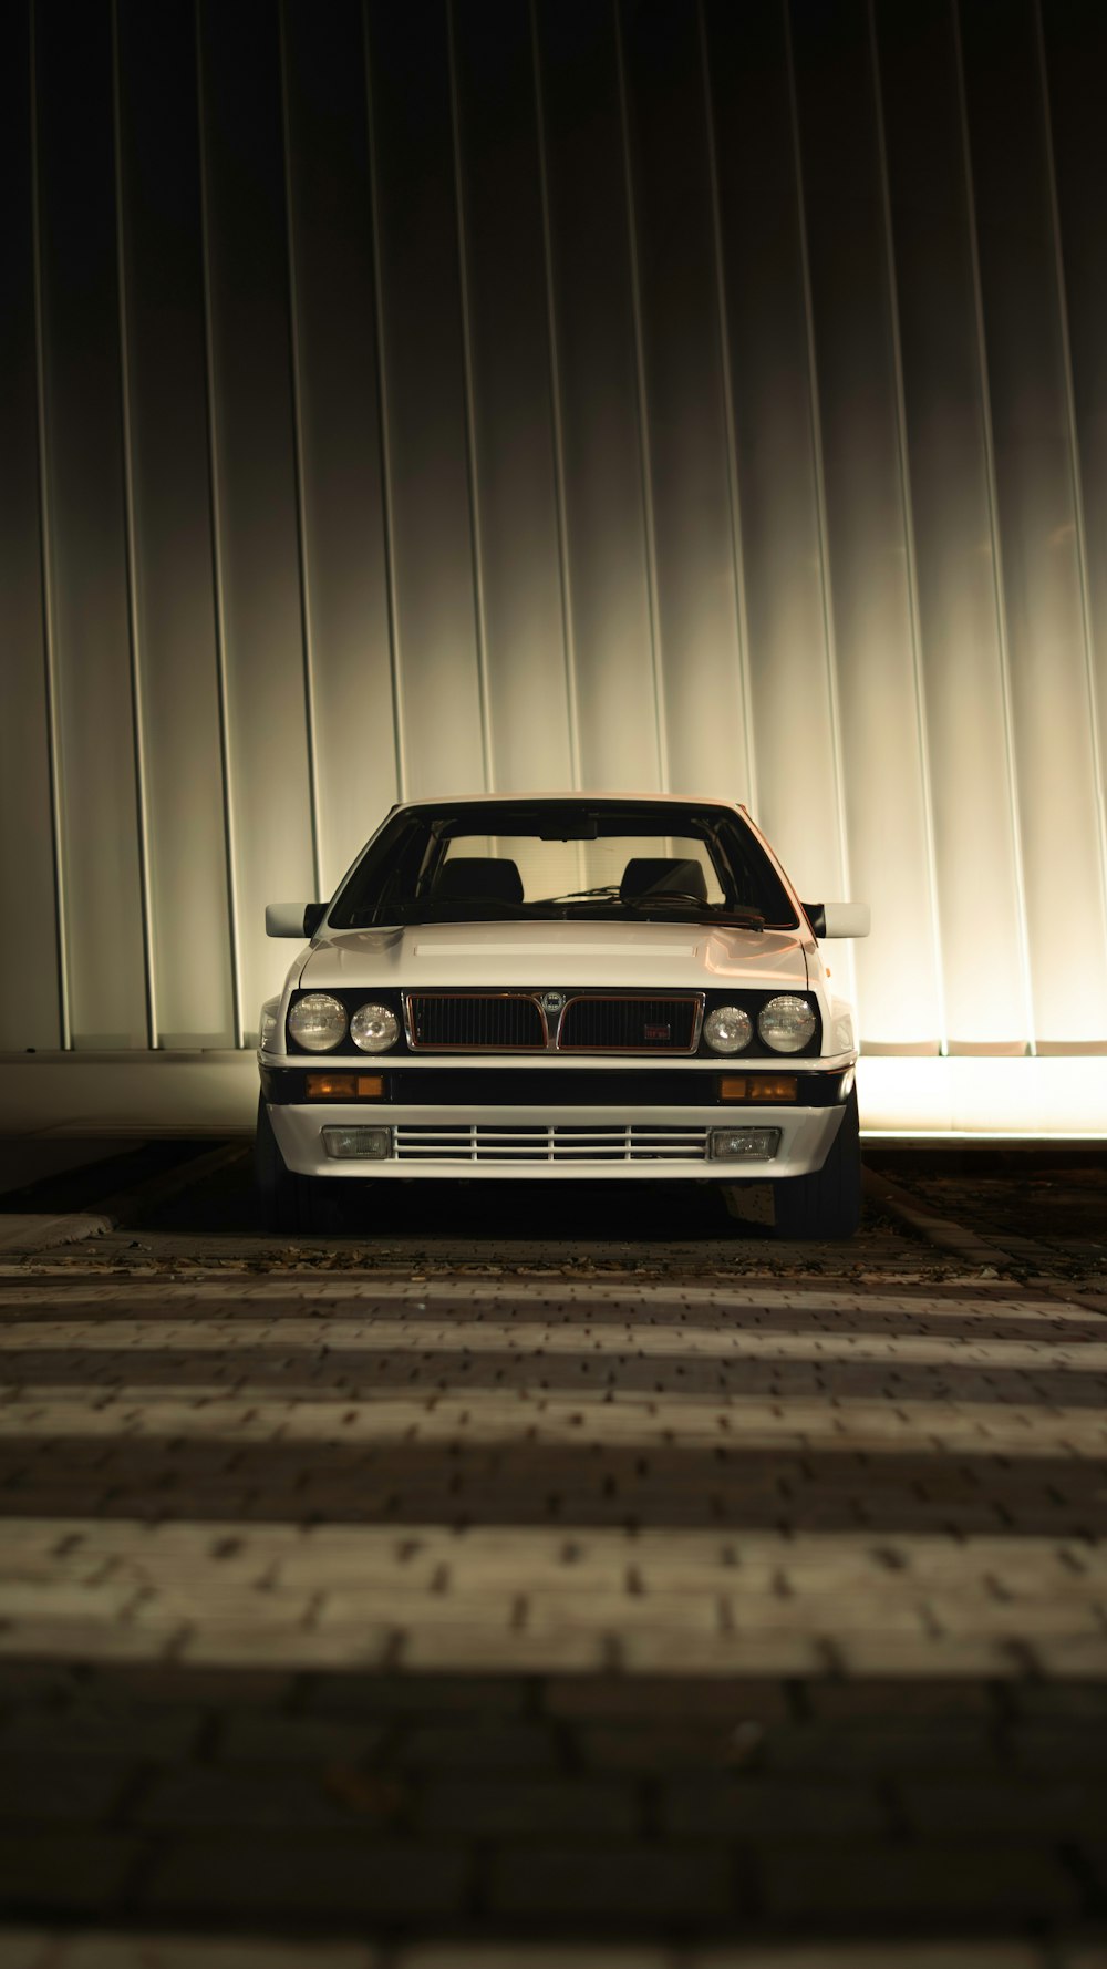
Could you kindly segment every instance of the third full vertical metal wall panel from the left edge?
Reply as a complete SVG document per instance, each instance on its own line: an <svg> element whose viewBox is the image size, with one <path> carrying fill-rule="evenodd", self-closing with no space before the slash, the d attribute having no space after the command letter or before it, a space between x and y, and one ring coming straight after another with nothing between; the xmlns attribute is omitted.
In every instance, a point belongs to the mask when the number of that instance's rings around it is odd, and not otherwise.
<svg viewBox="0 0 1107 1969"><path fill-rule="evenodd" d="M189 0L124 0L118 91L156 1036L232 1046Z"/></svg>

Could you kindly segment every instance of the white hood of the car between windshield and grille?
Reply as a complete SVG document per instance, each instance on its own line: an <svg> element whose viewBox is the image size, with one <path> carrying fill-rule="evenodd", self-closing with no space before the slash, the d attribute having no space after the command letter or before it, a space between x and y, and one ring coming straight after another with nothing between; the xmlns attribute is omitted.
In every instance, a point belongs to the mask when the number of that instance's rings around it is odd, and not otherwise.
<svg viewBox="0 0 1107 1969"><path fill-rule="evenodd" d="M414 923L406 929L335 929L311 945L301 988L390 986L546 990L727 984L804 990L808 961L794 929L707 923Z"/></svg>

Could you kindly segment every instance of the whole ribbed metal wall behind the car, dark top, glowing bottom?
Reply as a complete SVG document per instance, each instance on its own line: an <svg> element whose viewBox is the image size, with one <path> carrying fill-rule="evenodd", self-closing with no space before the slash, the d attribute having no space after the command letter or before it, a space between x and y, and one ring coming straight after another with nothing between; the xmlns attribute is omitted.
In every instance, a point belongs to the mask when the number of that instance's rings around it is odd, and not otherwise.
<svg viewBox="0 0 1107 1969"><path fill-rule="evenodd" d="M871 900L871 1049L1107 1049L1105 53L8 8L0 1048L240 1044L398 794L591 786Z"/></svg>

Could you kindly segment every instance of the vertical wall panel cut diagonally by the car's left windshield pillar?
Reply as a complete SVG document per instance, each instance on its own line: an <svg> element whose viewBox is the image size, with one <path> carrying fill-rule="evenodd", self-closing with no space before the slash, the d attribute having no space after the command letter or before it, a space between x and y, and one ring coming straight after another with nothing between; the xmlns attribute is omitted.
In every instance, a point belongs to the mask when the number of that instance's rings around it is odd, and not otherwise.
<svg viewBox="0 0 1107 1969"><path fill-rule="evenodd" d="M357 0L284 12L315 797L331 894L396 799L372 195Z"/></svg>

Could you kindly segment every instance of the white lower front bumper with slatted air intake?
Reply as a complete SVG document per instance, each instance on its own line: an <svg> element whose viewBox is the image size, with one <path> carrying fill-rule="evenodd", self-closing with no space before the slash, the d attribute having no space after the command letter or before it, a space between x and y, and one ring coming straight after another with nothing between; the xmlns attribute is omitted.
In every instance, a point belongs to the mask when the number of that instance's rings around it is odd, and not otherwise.
<svg viewBox="0 0 1107 1969"><path fill-rule="evenodd" d="M362 1063L364 1065L364 1063ZM752 1065L752 1063L750 1063ZM768 1063L762 1063L768 1065ZM680 1103L634 1099L626 1075L624 1099L563 1101L557 1071L544 1075L540 1099L447 1103L433 1101L303 1101L299 1075L266 1065L262 1091L284 1162L297 1175L337 1179L477 1181L778 1181L821 1170L845 1112L853 1061L817 1061L798 1075L790 1103L721 1103L711 1099L719 1069L703 1077L703 1097ZM412 1087L412 1083L406 1083ZM597 1081L597 1091L599 1091ZM579 1081L575 1083L579 1087ZM611 1077L603 1083L611 1093ZM392 1093L392 1089L388 1089ZM477 1091L477 1089L475 1089ZM676 1083L674 1083L676 1091ZM687 1079L682 1081L682 1095ZM384 1160L337 1160L327 1154L325 1128L390 1130ZM713 1130L778 1130L770 1160L713 1158Z"/></svg>

